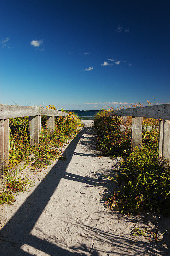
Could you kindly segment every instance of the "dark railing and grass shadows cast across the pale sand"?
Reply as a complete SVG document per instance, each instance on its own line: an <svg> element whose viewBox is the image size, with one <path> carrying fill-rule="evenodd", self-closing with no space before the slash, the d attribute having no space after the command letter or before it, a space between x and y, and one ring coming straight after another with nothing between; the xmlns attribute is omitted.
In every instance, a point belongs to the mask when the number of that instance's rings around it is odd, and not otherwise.
<svg viewBox="0 0 170 256"><path fill-rule="evenodd" d="M109 256L112 255L121 256L121 255L168 255L167 249L162 248L162 254L156 250L156 246L153 243L136 241L135 239L129 239L125 235L114 234L113 232L106 232L100 230L98 228L93 228L90 226L82 225L77 222L77 225L81 225L81 227L88 234L95 233L95 239L98 240L101 244L103 244L103 251L100 249L100 253L97 248L88 248L88 246L84 243L76 243L72 248L72 252L67 249L61 248L61 244L63 247L63 243L60 244L60 241L57 240L56 237L46 237L44 234L44 239L40 239L31 234L31 230L34 228L36 221L40 217L41 213L45 209L50 197L54 193L55 189L58 186L61 178L65 178L68 180L76 180L79 182L87 183L92 186L95 186L97 182L104 182L106 187L106 180L103 177L97 178L89 178L82 177L80 175L73 175L66 172L68 164L70 163L76 145L79 142L80 138L86 134L92 134L93 128L84 128L82 131L73 139L66 150L64 151L64 155L66 155L66 161L62 163L58 161L55 166L48 172L45 177L45 180L42 181L30 194L30 196L24 201L24 203L20 206L17 212L12 216L12 218L7 222L5 228L1 230L0 233L0 255L1 256L21 256L21 255L33 255L29 252L25 252L22 250L21 246L23 244L28 244L31 247L36 248L37 250L42 251L37 252L36 255L51 255L51 256L76 256L76 255L102 255ZM91 147L91 144L85 141L85 145ZM96 156L96 154L94 153ZM56 174L56 168L58 172ZM99 180L100 178L100 180ZM111 214L113 214L111 212ZM24 222L24 224L23 224ZM28 225L29 223L29 225ZM40 231L41 230L40 227ZM109 240L110 244L114 244L115 252L109 252L104 250L104 244ZM50 241L49 241L50 240ZM52 243L54 241L56 244ZM129 245L127 247L127 244ZM130 250L131 248L132 250ZM130 251L129 251L130 250Z"/></svg>

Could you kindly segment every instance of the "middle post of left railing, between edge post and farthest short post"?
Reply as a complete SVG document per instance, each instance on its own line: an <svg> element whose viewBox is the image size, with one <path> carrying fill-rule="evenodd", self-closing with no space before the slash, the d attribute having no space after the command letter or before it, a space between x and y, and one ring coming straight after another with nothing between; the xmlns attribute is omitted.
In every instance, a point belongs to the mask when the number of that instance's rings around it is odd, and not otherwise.
<svg viewBox="0 0 170 256"><path fill-rule="evenodd" d="M32 147L39 147L39 116L29 117L29 143Z"/></svg>

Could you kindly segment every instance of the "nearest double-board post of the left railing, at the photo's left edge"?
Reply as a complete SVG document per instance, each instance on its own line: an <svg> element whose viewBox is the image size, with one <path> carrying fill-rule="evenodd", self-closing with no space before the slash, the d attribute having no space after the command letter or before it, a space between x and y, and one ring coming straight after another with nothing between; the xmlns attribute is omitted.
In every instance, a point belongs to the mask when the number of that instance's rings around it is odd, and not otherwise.
<svg viewBox="0 0 170 256"><path fill-rule="evenodd" d="M0 176L9 167L9 119L0 120Z"/></svg>

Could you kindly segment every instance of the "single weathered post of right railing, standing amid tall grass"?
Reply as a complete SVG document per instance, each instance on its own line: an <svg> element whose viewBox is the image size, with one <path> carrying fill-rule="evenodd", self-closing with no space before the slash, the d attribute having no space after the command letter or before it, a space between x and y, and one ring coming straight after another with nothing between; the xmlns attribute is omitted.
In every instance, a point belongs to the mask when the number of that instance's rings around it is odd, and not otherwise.
<svg viewBox="0 0 170 256"><path fill-rule="evenodd" d="M142 146L142 117L132 116L131 146L132 149Z"/></svg>

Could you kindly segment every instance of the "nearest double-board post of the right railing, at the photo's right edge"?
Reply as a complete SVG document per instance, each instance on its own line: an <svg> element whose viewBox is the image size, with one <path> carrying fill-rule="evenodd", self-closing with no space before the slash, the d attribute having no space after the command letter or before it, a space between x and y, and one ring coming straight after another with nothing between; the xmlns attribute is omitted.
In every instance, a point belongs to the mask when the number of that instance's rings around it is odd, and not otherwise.
<svg viewBox="0 0 170 256"><path fill-rule="evenodd" d="M158 150L160 155L158 156L159 165L166 167L165 159L170 162L170 121L159 121L159 142Z"/></svg>

